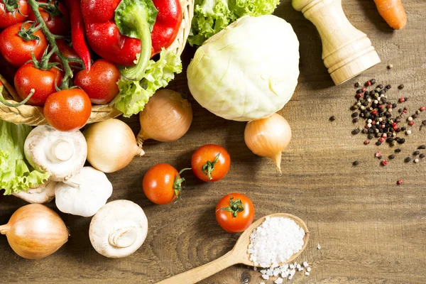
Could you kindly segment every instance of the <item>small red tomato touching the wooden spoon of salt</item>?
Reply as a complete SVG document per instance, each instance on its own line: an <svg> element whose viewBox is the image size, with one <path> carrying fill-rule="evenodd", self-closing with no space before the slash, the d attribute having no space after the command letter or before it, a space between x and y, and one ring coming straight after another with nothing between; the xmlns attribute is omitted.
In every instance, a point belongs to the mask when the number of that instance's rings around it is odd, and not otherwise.
<svg viewBox="0 0 426 284"><path fill-rule="evenodd" d="M216 205L216 220L225 231L239 233L249 228L254 219L253 202L240 193L225 195Z"/></svg>

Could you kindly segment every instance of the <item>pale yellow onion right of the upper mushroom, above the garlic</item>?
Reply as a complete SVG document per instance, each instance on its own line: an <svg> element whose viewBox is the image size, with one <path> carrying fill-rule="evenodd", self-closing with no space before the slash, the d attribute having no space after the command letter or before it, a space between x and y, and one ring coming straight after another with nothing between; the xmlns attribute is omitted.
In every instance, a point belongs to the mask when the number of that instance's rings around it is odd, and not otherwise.
<svg viewBox="0 0 426 284"><path fill-rule="evenodd" d="M143 155L131 128L119 119L90 124L84 131L87 160L93 168L113 173L129 165L135 155Z"/></svg>

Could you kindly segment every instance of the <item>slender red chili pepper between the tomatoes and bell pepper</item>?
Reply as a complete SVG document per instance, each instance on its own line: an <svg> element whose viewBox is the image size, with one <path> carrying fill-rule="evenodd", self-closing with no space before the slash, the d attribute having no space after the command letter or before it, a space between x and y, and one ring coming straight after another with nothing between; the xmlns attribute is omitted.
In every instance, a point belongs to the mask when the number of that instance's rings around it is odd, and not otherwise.
<svg viewBox="0 0 426 284"><path fill-rule="evenodd" d="M89 49L84 41L84 20L80 9L80 1L65 0L65 5L68 11L70 11L72 48L80 56L85 69L89 71L92 60Z"/></svg>

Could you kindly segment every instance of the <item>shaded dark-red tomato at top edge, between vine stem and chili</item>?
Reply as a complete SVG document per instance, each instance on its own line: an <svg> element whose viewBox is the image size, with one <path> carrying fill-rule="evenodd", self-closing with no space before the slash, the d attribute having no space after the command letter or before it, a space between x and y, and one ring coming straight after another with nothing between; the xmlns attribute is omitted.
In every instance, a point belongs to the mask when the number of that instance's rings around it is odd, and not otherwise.
<svg viewBox="0 0 426 284"><path fill-rule="evenodd" d="M48 3L46 0L41 0L38 2ZM50 1L50 4L54 4L54 1ZM50 16L50 14L43 8L38 8L38 11L40 11L41 18L43 18L43 21L45 21L50 33L53 33L54 35L68 35L68 33L70 33L70 14L62 3L58 4L58 9L62 15L54 17ZM30 11L28 18L30 21L35 21L35 15L33 11Z"/></svg>

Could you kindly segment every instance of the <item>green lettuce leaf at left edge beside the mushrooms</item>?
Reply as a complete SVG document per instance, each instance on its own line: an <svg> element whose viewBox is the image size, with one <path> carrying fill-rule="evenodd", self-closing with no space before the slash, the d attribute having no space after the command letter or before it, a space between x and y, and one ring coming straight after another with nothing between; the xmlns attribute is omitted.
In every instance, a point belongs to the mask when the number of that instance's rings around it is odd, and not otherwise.
<svg viewBox="0 0 426 284"><path fill-rule="evenodd" d="M48 180L48 173L31 168L23 154L23 143L31 126L16 125L0 120L0 189L4 195L37 187Z"/></svg>

